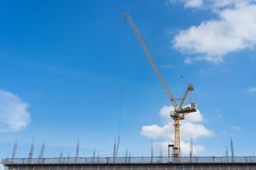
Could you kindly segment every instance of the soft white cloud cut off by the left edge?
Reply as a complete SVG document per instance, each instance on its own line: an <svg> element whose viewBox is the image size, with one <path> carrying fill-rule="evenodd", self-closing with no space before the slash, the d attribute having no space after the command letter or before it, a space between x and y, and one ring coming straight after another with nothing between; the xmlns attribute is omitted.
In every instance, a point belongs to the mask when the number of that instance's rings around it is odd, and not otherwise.
<svg viewBox="0 0 256 170"><path fill-rule="evenodd" d="M15 132L30 123L28 103L11 92L0 90L0 132Z"/></svg>

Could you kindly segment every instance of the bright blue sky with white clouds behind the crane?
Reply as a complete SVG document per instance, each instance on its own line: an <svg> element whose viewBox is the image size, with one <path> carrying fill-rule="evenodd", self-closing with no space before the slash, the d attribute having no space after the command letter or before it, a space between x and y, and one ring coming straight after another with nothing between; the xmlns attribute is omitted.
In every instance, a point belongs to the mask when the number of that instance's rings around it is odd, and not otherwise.
<svg viewBox="0 0 256 170"><path fill-rule="evenodd" d="M255 1L2 1L0 6L0 157L150 156L171 141L171 102L139 45L134 23L195 87L200 112L181 122L197 156L256 152ZM125 33L125 40L124 40ZM125 41L125 50L124 50ZM149 47L175 98L187 84ZM166 110L167 109L167 110ZM184 128L183 128L184 127ZM149 130L150 129L150 130ZM182 148L181 148L182 150ZM184 147L183 155L188 153Z"/></svg>

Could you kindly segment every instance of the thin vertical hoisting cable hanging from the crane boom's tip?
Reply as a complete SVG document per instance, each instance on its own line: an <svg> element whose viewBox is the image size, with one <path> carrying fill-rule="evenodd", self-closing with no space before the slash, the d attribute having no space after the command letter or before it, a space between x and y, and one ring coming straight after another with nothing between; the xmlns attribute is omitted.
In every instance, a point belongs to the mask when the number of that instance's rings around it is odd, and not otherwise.
<svg viewBox="0 0 256 170"><path fill-rule="evenodd" d="M126 32L126 20L124 21L124 47L122 53L122 73L121 73L121 93L120 93L120 106L119 106L119 128L118 128L118 142L117 142L117 152L120 141L120 131L121 131L121 115L122 115L122 94L123 94L123 86L124 86L124 51L125 51L125 32ZM117 157L117 152L115 157Z"/></svg>

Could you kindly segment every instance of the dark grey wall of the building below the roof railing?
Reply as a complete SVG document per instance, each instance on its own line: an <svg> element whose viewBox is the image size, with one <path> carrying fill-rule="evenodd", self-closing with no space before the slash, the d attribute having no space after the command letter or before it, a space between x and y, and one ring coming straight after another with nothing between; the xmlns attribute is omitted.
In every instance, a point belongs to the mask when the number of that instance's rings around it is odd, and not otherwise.
<svg viewBox="0 0 256 170"><path fill-rule="evenodd" d="M256 164L12 165L5 170L256 170Z"/></svg>

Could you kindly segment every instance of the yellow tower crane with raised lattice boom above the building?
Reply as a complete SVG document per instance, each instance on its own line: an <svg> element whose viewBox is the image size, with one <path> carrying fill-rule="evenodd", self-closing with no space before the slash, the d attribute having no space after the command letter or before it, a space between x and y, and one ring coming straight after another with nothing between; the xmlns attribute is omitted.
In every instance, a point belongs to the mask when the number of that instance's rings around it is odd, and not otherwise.
<svg viewBox="0 0 256 170"><path fill-rule="evenodd" d="M193 86L191 84L188 85L188 89L186 90L186 93L184 94L183 98L176 99L177 101L181 101L180 105L178 106L174 96L171 94L171 91L169 90L166 82L164 81L164 78L161 76L161 73L159 72L159 69L156 67L156 63L154 62L153 58L151 57L149 50L147 49L144 41L142 40L142 36L139 34L139 30L137 26L135 26L134 22L132 21L131 16L129 16L129 13L124 13L123 16L126 16L129 20L129 23L132 26L132 29L134 30L134 33L137 35L137 38L142 45L142 48L144 52L146 53L146 57L148 57L149 62L151 66L154 68L154 71L156 72L157 77L161 81L161 85L164 87L164 90L166 91L166 94L168 95L172 105L174 106L174 111L170 112L171 118L174 119L174 157L181 157L181 139L180 139L180 123L179 120L183 120L184 116L191 112L196 112L196 103L192 103L192 91ZM181 76L181 78L183 78ZM188 96L188 92L190 91L191 94L191 107L183 108L183 103L186 100L186 96Z"/></svg>

